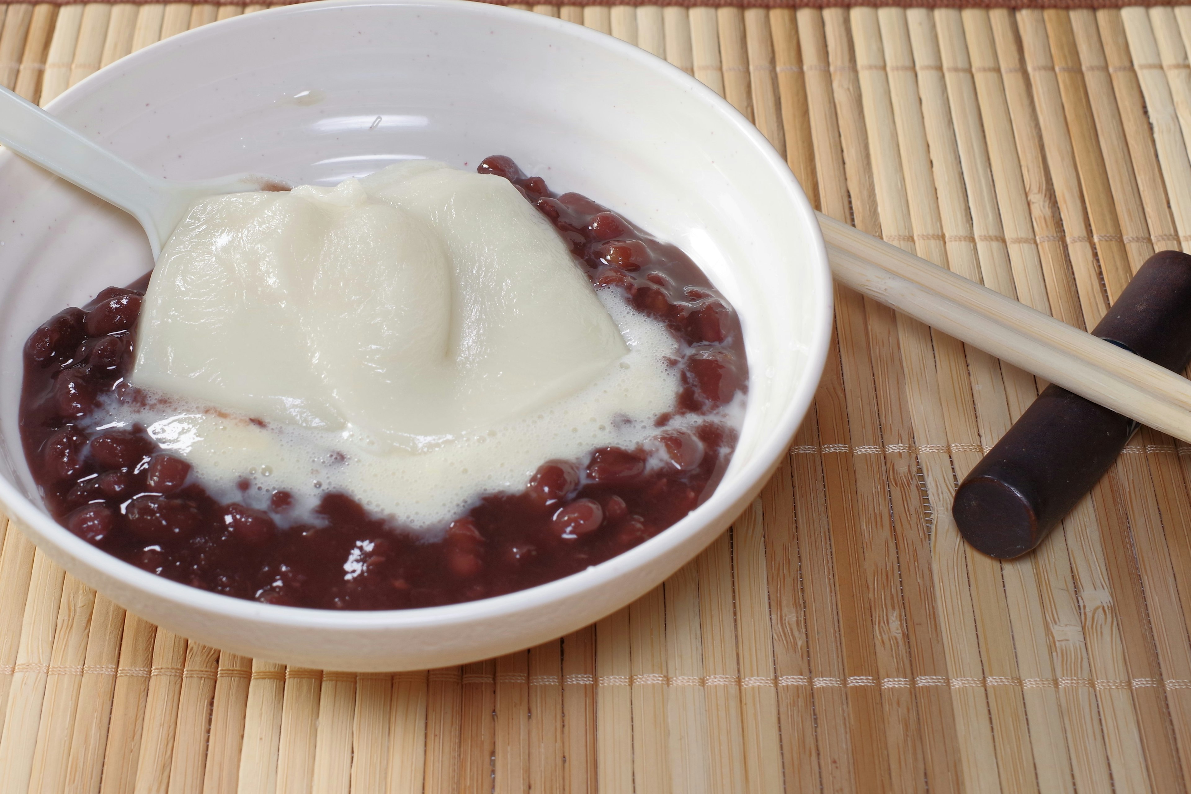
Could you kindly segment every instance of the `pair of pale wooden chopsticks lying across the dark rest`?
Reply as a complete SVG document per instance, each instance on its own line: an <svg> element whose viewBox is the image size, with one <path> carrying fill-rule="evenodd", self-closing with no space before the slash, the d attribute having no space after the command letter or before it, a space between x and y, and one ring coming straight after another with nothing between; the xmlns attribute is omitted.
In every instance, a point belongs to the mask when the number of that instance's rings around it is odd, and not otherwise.
<svg viewBox="0 0 1191 794"><path fill-rule="evenodd" d="M1191 442L1191 381L818 213L836 281L1062 388ZM1191 307L1189 307L1191 308Z"/></svg>

